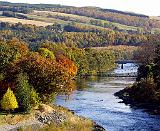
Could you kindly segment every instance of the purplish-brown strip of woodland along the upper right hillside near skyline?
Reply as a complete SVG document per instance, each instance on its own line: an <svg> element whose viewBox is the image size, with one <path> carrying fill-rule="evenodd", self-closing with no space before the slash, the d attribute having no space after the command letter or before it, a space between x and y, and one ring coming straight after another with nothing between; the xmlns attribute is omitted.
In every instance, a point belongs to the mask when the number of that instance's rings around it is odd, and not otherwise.
<svg viewBox="0 0 160 131"><path fill-rule="evenodd" d="M108 20L128 26L144 27L146 29L159 28L160 23L156 20L151 20L148 17L131 16L129 14L122 14L112 11L103 11L100 8L92 7L67 7L67 8L55 8L53 11L75 14L81 16L92 17L96 19Z"/></svg>

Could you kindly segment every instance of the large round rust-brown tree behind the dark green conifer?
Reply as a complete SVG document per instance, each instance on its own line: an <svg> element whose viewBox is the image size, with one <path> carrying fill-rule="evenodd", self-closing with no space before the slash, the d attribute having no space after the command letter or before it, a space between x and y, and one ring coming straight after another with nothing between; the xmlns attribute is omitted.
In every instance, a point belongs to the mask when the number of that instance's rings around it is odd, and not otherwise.
<svg viewBox="0 0 160 131"><path fill-rule="evenodd" d="M57 86L63 85L68 77L60 64L37 52L28 54L17 63L17 66L27 73L29 83L43 94L52 93Z"/></svg>

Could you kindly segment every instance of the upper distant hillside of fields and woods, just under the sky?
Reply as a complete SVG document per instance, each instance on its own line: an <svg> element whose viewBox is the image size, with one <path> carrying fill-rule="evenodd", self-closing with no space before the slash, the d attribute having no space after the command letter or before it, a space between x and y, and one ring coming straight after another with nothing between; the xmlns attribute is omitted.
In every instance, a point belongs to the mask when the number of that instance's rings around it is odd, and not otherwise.
<svg viewBox="0 0 160 131"><path fill-rule="evenodd" d="M128 33L154 33L155 29L160 28L160 22L149 16L99 7L0 2L0 11L3 17L46 23L74 22Z"/></svg>

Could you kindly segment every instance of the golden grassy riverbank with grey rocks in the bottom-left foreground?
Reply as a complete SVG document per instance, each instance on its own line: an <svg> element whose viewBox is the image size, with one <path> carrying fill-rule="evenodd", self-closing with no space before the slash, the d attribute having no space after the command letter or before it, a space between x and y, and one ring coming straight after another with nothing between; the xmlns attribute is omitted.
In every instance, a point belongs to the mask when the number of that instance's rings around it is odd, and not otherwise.
<svg viewBox="0 0 160 131"><path fill-rule="evenodd" d="M1 122L0 131L105 131L94 121L77 116L67 108L45 104L35 108L30 114L1 115Z"/></svg>

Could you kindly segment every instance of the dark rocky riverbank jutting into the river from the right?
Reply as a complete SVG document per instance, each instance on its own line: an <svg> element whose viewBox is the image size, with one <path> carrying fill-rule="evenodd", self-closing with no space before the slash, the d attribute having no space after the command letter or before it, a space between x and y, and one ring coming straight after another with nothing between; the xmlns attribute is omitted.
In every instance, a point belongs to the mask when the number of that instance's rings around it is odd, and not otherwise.
<svg viewBox="0 0 160 131"><path fill-rule="evenodd" d="M139 108L143 109L144 111L148 112L149 114L153 115L160 115L160 105L159 102L152 101L152 102L139 102L135 100L131 94L134 94L132 87L126 87L114 95L118 98L122 99L123 103L130 105L132 108Z"/></svg>

